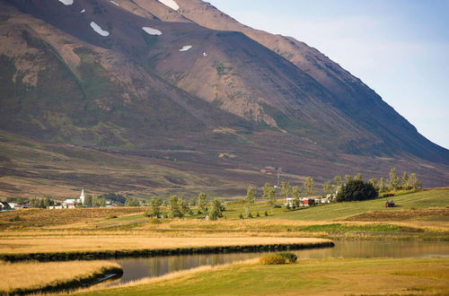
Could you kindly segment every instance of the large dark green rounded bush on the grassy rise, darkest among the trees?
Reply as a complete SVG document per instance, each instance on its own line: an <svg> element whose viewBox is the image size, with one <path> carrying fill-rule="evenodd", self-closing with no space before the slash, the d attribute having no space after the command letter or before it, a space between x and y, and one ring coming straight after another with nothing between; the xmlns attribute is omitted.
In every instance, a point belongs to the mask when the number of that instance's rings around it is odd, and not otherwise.
<svg viewBox="0 0 449 296"><path fill-rule="evenodd" d="M353 202L377 197L379 194L371 183L362 180L349 180L337 195L338 202Z"/></svg>

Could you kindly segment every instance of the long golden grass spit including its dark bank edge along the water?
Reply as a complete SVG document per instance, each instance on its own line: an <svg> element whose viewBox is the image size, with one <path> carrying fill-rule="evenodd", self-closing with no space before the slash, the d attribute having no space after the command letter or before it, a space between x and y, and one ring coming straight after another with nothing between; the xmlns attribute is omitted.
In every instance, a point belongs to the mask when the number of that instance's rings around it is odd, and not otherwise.
<svg viewBox="0 0 449 296"><path fill-rule="evenodd" d="M13 245L15 244L15 245ZM24 244L26 247L19 247ZM13 247L15 246L15 248ZM57 261L107 257L163 256L222 252L257 252L301 248L332 247L329 239L307 238L36 238L15 239L9 248L0 247L0 258L7 261Z"/></svg>

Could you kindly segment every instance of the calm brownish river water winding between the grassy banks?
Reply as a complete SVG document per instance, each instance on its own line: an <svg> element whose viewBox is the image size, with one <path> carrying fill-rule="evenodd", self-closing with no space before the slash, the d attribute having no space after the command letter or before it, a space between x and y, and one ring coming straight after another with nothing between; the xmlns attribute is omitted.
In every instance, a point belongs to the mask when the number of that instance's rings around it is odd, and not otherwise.
<svg viewBox="0 0 449 296"><path fill-rule="evenodd" d="M298 260L329 257L449 257L447 242L410 241L336 241L334 248L315 248L294 252ZM116 260L123 268L123 276L109 283L128 283L145 277L159 276L198 266L218 266L235 261L262 257L268 253L234 253L184 255Z"/></svg>

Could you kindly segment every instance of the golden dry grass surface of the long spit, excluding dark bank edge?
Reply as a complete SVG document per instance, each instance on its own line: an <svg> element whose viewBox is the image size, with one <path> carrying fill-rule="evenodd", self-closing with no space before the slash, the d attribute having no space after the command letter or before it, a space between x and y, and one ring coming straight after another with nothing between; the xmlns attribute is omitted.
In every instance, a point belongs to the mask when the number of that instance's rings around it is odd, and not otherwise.
<svg viewBox="0 0 449 296"><path fill-rule="evenodd" d="M210 237L210 238L164 238L144 235L102 235L65 237L1 238L0 253L53 253L71 251L105 251L158 248L199 248L221 246L249 246L271 244L314 244L329 239L278 238L278 237Z"/></svg>

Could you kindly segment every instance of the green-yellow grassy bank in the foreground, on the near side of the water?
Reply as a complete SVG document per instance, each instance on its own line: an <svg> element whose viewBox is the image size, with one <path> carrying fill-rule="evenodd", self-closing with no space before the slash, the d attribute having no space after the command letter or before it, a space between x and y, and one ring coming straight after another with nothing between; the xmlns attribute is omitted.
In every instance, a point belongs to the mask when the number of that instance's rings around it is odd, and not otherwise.
<svg viewBox="0 0 449 296"><path fill-rule="evenodd" d="M199 269L85 295L447 294L449 258L304 260Z"/></svg>

